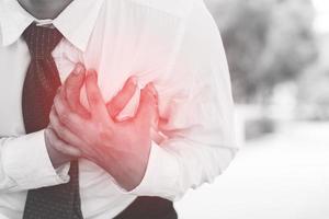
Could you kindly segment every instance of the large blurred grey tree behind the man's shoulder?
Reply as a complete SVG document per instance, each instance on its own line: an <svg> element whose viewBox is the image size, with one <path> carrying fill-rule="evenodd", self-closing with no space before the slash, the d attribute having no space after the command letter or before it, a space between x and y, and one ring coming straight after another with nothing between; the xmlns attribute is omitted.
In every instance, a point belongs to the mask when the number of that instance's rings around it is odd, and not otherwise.
<svg viewBox="0 0 329 219"><path fill-rule="evenodd" d="M236 101L270 100L317 57L310 0L207 0L222 32Z"/></svg>

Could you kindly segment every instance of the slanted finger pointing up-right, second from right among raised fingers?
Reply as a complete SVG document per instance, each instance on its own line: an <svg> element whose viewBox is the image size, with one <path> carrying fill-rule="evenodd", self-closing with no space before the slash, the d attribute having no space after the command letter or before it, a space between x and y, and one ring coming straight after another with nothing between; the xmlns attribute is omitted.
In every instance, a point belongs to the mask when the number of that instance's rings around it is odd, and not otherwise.
<svg viewBox="0 0 329 219"><path fill-rule="evenodd" d="M116 117L134 96L137 89L137 78L131 77L124 88L106 104L112 118Z"/></svg>

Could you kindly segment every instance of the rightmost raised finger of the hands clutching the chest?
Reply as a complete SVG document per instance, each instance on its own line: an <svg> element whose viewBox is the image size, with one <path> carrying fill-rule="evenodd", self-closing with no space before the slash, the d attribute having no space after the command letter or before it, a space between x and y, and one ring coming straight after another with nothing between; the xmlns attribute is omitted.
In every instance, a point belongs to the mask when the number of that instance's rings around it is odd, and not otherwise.
<svg viewBox="0 0 329 219"><path fill-rule="evenodd" d="M135 119L140 126L152 127L158 117L158 97L152 83L140 92L139 106Z"/></svg>

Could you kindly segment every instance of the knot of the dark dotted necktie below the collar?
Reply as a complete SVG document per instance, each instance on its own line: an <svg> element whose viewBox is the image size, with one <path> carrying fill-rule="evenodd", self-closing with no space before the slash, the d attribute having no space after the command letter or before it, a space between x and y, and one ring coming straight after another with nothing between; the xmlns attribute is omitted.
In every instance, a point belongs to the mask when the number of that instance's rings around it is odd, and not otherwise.
<svg viewBox="0 0 329 219"><path fill-rule="evenodd" d="M37 26L33 23L24 31L23 38L27 44L32 59L44 59L50 56L63 35L57 28Z"/></svg>

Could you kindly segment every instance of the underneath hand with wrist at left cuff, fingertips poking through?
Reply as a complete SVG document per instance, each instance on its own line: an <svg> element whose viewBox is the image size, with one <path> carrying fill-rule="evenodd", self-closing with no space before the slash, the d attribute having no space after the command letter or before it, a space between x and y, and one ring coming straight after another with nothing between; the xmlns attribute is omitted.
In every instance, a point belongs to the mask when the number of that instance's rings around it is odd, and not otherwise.
<svg viewBox="0 0 329 219"><path fill-rule="evenodd" d="M66 93L70 107L81 116L89 116L89 112L80 104L80 89L84 81L84 67L78 64L65 82ZM135 77L129 78L124 88L106 104L111 116L115 118L133 97L137 89L137 80ZM59 139L53 130L52 124L45 130L45 142L53 166L58 166L70 162L79 157L81 152L76 147L68 145Z"/></svg>

